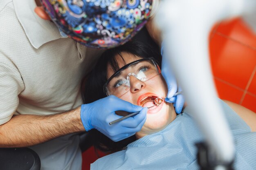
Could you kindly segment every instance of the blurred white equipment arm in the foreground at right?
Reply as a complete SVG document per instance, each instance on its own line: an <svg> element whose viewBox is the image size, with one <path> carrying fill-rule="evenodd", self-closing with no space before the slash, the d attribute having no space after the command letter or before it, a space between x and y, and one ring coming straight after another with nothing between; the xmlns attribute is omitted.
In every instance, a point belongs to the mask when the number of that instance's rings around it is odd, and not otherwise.
<svg viewBox="0 0 256 170"><path fill-rule="evenodd" d="M234 160L234 141L217 102L208 35L217 21L238 15L255 30L254 10L255 0L162 0L156 15L173 72L206 138L207 161L225 169Z"/></svg>

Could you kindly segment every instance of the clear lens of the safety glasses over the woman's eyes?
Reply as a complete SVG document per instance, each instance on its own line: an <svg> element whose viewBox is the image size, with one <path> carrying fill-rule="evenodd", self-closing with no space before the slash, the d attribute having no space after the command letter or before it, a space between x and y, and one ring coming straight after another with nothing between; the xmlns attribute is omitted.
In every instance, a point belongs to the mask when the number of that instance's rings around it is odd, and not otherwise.
<svg viewBox="0 0 256 170"><path fill-rule="evenodd" d="M132 74L130 74L132 73ZM148 79L158 74L157 67L152 61L142 61L133 64L113 77L107 84L109 95L122 95L130 90L130 84L127 80L127 75L134 76L141 82L145 82Z"/></svg>

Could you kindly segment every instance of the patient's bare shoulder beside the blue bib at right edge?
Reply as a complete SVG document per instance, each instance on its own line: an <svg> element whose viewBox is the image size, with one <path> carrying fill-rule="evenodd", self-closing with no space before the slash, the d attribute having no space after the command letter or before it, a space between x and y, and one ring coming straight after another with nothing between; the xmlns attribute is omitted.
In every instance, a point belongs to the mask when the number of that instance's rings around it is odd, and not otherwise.
<svg viewBox="0 0 256 170"><path fill-rule="evenodd" d="M227 100L223 101L226 102L229 107L231 107L245 121L245 123L252 129L252 132L256 132L256 113L239 104L229 102Z"/></svg>

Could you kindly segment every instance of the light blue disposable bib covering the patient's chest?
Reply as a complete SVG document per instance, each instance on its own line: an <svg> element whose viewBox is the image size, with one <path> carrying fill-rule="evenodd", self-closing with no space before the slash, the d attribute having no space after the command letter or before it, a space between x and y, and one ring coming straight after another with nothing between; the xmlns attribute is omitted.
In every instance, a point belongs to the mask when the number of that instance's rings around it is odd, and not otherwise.
<svg viewBox="0 0 256 170"><path fill-rule="evenodd" d="M235 170L256 170L256 132L223 101L221 105L236 145ZM126 150L91 164L91 170L199 170L195 143L203 137L189 110L164 130L132 142Z"/></svg>

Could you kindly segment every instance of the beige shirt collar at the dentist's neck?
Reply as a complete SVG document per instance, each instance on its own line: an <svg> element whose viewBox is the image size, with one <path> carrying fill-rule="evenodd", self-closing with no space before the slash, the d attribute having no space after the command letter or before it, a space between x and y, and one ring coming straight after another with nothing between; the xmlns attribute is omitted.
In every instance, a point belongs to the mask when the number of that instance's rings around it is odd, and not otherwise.
<svg viewBox="0 0 256 170"><path fill-rule="evenodd" d="M58 27L51 21L43 20L35 12L35 0L13 0L17 18L34 48L63 38Z"/></svg>

